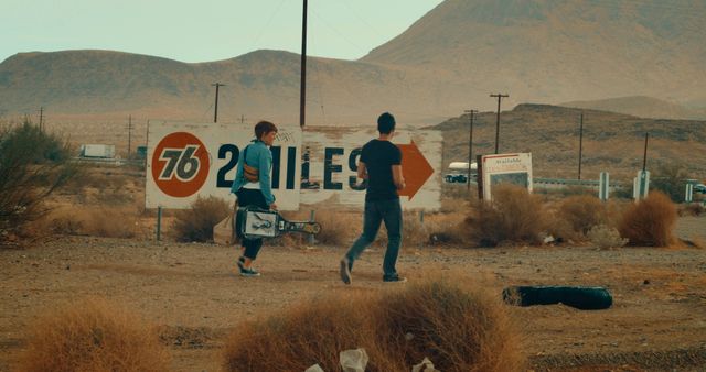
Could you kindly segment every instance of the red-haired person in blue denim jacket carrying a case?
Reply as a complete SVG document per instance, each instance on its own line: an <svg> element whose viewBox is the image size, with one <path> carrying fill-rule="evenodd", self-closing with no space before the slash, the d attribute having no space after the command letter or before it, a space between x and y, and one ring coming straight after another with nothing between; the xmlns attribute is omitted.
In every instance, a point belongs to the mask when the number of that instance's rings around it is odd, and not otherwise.
<svg viewBox="0 0 706 372"><path fill-rule="evenodd" d="M239 207L256 206L263 209L277 209L271 188L272 153L269 147L275 142L277 127L269 121L260 121L255 125L255 140L240 153L235 180L231 193L235 194ZM236 230L240 231L242 221L236 221ZM263 247L263 239L245 239L240 237L243 254L238 258L238 269L243 276L260 276L253 267L253 262Z"/></svg>

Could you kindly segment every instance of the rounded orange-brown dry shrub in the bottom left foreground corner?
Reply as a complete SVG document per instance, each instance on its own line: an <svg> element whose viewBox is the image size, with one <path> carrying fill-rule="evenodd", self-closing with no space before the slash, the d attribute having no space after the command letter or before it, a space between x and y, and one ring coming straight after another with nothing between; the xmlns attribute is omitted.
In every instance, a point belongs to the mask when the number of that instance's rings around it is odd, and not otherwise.
<svg viewBox="0 0 706 372"><path fill-rule="evenodd" d="M167 349L132 313L88 299L38 319L20 371L169 371Z"/></svg>

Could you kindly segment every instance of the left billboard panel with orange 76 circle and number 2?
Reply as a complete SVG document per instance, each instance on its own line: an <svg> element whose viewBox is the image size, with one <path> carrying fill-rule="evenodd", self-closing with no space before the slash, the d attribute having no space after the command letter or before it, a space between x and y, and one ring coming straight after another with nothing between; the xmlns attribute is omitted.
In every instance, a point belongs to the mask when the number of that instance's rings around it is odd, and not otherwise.
<svg viewBox="0 0 706 372"><path fill-rule="evenodd" d="M147 208L188 208L196 197L229 195L252 125L151 123L148 129ZM301 129L278 125L272 151L272 194L281 210L299 209Z"/></svg>

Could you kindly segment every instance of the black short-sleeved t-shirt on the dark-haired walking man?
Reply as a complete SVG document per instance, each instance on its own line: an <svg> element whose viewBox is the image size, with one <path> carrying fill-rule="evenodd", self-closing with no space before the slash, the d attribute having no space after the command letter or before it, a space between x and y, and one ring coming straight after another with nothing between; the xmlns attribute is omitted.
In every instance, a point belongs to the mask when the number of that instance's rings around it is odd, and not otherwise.
<svg viewBox="0 0 706 372"><path fill-rule="evenodd" d="M399 199L393 180L393 165L402 164L399 147L389 141L372 140L363 146L361 162L368 175L365 200Z"/></svg>

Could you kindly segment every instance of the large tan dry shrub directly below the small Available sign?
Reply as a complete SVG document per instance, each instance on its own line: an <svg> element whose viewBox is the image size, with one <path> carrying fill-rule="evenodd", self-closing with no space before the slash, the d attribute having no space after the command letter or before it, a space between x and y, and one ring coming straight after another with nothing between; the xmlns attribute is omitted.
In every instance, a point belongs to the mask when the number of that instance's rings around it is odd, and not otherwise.
<svg viewBox="0 0 706 372"><path fill-rule="evenodd" d="M547 221L542 199L515 185L496 185L491 203L481 201L466 219L471 239L483 247L502 242L541 243Z"/></svg>

